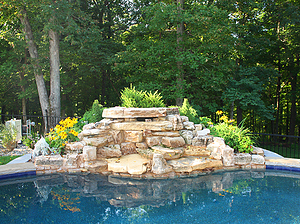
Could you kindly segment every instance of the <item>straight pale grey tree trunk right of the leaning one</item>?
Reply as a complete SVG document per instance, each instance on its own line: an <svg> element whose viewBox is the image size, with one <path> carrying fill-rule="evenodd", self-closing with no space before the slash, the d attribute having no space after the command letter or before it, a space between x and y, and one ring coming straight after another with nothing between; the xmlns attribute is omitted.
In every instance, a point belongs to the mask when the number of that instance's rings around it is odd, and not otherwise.
<svg viewBox="0 0 300 224"><path fill-rule="evenodd" d="M59 37L57 31L49 30L50 50L50 116L49 124L54 127L60 120L60 74L59 74Z"/></svg>

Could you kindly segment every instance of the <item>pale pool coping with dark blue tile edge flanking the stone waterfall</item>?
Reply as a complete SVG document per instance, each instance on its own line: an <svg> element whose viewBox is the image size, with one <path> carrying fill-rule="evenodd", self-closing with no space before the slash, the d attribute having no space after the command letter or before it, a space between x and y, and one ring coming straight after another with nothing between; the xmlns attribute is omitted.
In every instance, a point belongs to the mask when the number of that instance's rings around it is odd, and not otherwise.
<svg viewBox="0 0 300 224"><path fill-rule="evenodd" d="M276 153L265 151L267 170L287 170L300 172L300 159L284 158ZM36 175L36 167L30 162L31 155L23 155L9 164L0 165L0 180ZM29 162L28 162L29 161Z"/></svg>

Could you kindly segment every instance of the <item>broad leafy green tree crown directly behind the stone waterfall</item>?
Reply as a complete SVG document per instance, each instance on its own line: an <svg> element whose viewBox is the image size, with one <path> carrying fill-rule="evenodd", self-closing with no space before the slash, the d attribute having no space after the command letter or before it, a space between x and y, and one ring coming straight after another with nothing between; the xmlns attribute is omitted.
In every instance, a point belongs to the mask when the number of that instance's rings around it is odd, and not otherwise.
<svg viewBox="0 0 300 224"><path fill-rule="evenodd" d="M182 14L174 2L156 2L142 11L138 25L123 35L126 50L116 55L114 71L138 89L159 90L169 105L186 97L206 107L204 96L221 94L231 66L228 55L233 38L228 15L195 1L186 2ZM176 31L181 22L185 32L179 43ZM182 71L183 80L179 79Z"/></svg>

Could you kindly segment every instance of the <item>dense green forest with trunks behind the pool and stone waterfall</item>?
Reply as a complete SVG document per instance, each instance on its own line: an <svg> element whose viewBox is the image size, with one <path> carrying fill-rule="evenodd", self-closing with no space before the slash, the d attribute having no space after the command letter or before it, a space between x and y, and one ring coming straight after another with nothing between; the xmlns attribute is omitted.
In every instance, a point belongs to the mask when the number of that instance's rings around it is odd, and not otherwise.
<svg viewBox="0 0 300 224"><path fill-rule="evenodd" d="M1 114L82 116L130 85L299 135L298 0L0 0Z"/></svg>

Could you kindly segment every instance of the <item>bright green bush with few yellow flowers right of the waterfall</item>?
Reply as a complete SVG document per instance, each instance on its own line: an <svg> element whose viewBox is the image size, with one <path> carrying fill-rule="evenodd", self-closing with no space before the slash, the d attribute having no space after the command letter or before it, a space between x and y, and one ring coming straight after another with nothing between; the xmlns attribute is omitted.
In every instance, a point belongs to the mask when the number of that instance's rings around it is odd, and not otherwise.
<svg viewBox="0 0 300 224"><path fill-rule="evenodd" d="M219 111L218 113L217 115L222 115ZM234 120L228 120L226 115L220 116L219 120L219 124L211 127L211 135L223 138L225 144L233 148L235 152L252 152L252 145L255 141L249 134L249 129L243 127L243 124L239 127L233 125Z"/></svg>

